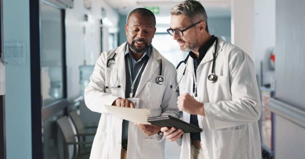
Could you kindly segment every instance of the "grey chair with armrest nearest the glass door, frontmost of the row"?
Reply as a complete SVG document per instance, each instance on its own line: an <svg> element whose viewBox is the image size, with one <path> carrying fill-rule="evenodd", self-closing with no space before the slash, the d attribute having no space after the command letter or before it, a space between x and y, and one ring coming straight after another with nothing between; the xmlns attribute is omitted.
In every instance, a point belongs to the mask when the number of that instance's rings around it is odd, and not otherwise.
<svg viewBox="0 0 305 159"><path fill-rule="evenodd" d="M88 159L90 156L90 150L80 150L80 145L91 144L92 142L79 142L76 140L76 135L74 135L73 128L69 123L69 120L66 116L56 120L56 123L63 135L65 143L65 159L69 159L68 146L73 145L73 159Z"/></svg>

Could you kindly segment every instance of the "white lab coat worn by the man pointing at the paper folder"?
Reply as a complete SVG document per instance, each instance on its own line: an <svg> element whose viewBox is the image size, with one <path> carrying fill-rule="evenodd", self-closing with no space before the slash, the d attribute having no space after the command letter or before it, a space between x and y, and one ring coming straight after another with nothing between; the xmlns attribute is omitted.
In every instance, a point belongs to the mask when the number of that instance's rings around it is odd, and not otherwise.
<svg viewBox="0 0 305 159"><path fill-rule="evenodd" d="M112 105L117 98L125 98L124 54L126 44L123 43L120 47L101 54L90 77L90 83L85 89L84 99L87 107L94 112L102 113L93 141L90 159L120 159L123 119L112 116L102 105ZM115 57L118 70L117 85L121 87L105 89L105 86L109 86L106 63L109 58L113 57L114 53L117 53ZM160 75L160 60L162 60L162 76L164 78L162 85L156 83L156 78ZM111 62L114 61L111 60ZM174 71L174 65L155 48L152 48L135 92L135 98L140 98L139 108L150 109L151 116L171 115L179 117L178 93L172 91L169 87L170 78ZM116 78L116 69L109 70L109 78L111 85L113 85L114 78ZM176 81L173 81L177 85ZM162 159L164 158L164 145L165 140L157 142L154 135L147 137L134 123L129 122L127 159Z"/></svg>

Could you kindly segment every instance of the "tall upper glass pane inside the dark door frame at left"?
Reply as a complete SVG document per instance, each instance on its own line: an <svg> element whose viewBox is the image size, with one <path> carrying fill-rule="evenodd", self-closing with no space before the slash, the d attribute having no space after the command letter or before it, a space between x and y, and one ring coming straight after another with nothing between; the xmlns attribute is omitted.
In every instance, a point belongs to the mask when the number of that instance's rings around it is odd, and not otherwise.
<svg viewBox="0 0 305 159"><path fill-rule="evenodd" d="M63 98L62 12L44 3L41 15L41 89L44 105Z"/></svg>

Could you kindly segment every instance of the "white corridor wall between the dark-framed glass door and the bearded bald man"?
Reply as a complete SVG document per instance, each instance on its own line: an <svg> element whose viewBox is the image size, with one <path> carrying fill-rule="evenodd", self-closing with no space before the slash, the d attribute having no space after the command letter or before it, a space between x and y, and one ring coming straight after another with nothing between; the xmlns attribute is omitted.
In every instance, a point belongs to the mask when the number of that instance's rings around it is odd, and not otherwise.
<svg viewBox="0 0 305 159"><path fill-rule="evenodd" d="M91 2L91 11L84 8L84 0L74 1L74 8L66 9L66 63L69 100L80 94L78 67L84 65L85 60L87 65L95 65L101 54L101 7L106 9L106 17L113 23L113 27L117 26L119 19L118 13L105 1L92 0ZM89 15L89 22L84 22L85 14ZM84 26L86 26L86 34L84 34ZM107 49L107 45L103 45L103 49Z"/></svg>

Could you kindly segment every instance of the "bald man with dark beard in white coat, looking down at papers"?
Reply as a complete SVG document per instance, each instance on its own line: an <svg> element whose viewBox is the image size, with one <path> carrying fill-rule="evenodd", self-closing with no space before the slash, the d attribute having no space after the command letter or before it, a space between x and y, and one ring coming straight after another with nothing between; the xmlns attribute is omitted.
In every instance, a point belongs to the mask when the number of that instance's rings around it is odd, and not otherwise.
<svg viewBox="0 0 305 159"><path fill-rule="evenodd" d="M164 158L165 140L157 142L154 137L162 137L160 127L117 118L103 106L150 109L150 116L180 116L178 93L169 86L175 67L151 45L155 26L151 11L133 10L125 26L127 42L103 52L95 64L84 95L87 107L102 113L91 159Z"/></svg>

